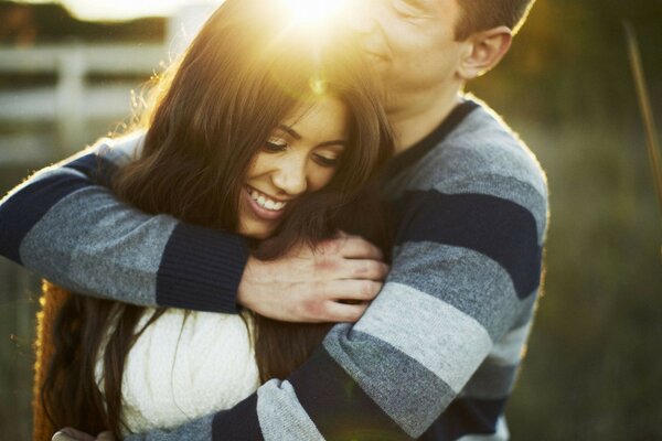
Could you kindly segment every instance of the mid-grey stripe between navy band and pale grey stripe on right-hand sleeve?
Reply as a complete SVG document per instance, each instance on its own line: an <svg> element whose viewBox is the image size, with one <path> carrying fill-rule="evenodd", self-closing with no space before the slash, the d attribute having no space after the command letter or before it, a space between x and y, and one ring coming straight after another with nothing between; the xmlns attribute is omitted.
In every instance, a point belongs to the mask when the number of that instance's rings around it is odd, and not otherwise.
<svg viewBox="0 0 662 441"><path fill-rule="evenodd" d="M470 315L493 341L500 340L528 305L517 298L503 267L461 247L407 243L397 249L388 281L426 292Z"/></svg>

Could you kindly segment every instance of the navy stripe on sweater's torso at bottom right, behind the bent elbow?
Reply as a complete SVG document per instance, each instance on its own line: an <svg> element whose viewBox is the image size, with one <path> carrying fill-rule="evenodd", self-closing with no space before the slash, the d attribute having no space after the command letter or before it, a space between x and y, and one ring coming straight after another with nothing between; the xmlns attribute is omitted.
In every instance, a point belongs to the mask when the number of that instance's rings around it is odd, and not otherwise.
<svg viewBox="0 0 662 441"><path fill-rule="evenodd" d="M458 398L419 438L421 441L452 441L468 434L493 434L508 398L478 400Z"/></svg>

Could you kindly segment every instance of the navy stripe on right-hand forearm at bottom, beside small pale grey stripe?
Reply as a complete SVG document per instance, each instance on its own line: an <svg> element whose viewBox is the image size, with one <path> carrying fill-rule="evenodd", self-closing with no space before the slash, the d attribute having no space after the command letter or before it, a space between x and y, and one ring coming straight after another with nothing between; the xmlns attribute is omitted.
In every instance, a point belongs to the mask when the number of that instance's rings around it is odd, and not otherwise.
<svg viewBox="0 0 662 441"><path fill-rule="evenodd" d="M324 351L290 375L299 402L325 440L389 441L408 437Z"/></svg>

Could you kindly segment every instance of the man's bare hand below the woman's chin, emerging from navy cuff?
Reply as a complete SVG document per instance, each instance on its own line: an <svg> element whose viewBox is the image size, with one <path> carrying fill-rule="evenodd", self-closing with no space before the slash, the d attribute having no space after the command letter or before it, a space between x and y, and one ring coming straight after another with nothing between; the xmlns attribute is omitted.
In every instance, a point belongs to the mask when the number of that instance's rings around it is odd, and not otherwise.
<svg viewBox="0 0 662 441"><path fill-rule="evenodd" d="M237 302L287 322L355 322L382 289L388 272L382 259L377 247L345 234L273 261L249 257Z"/></svg>

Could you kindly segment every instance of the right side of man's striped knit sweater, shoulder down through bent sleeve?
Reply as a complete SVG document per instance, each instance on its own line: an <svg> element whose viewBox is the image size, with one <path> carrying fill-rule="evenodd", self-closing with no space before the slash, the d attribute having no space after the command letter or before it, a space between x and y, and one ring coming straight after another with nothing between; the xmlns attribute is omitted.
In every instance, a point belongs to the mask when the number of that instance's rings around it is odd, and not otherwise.
<svg viewBox="0 0 662 441"><path fill-rule="evenodd" d="M540 289L544 173L471 100L389 171L396 232L384 289L289 378L258 389L257 415L221 413L214 440L250 440L256 424L266 440L508 439L505 404Z"/></svg>

